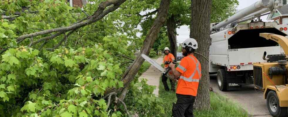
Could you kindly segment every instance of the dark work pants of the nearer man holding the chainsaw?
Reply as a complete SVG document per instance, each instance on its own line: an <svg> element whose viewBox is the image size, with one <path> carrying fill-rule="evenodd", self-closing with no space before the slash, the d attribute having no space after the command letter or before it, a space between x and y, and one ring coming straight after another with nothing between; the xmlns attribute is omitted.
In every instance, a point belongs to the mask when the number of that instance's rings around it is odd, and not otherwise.
<svg viewBox="0 0 288 117"><path fill-rule="evenodd" d="M195 96L176 94L177 102L173 103L172 117L194 117L193 104Z"/></svg>

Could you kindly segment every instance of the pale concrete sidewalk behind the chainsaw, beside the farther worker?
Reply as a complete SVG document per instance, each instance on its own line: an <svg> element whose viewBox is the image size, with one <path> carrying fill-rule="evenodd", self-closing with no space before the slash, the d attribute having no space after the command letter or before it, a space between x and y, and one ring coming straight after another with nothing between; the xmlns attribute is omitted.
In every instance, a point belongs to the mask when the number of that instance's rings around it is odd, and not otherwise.
<svg viewBox="0 0 288 117"><path fill-rule="evenodd" d="M154 59L159 65L163 62L163 57L159 57L157 60ZM153 94L156 94L158 96L159 92L159 81L160 81L161 72L154 66L150 66L148 70L146 70L142 75L139 77L139 81L141 81L143 78L147 79L148 85L156 86L156 89L154 90Z"/></svg>

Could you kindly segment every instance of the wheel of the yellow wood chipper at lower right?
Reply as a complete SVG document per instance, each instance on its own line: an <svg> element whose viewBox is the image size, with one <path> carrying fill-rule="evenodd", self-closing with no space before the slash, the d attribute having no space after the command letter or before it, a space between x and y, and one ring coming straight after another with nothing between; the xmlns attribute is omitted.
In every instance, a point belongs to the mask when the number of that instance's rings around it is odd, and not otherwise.
<svg viewBox="0 0 288 117"><path fill-rule="evenodd" d="M287 107L280 107L279 99L275 91L269 91L267 94L267 108L273 117L285 117Z"/></svg>

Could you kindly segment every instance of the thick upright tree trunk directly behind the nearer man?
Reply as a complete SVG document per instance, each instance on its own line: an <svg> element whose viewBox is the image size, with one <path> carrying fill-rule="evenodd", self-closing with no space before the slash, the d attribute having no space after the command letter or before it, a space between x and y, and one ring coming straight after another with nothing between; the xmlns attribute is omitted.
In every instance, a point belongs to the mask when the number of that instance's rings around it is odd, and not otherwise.
<svg viewBox="0 0 288 117"><path fill-rule="evenodd" d="M210 46L210 11L212 0L191 0L191 27L190 38L196 39L198 49L196 52L202 54L206 58L209 56ZM204 57L195 55L200 61L202 68L202 78L199 83L198 92L194 107L196 109L210 109L209 95L209 61Z"/></svg>

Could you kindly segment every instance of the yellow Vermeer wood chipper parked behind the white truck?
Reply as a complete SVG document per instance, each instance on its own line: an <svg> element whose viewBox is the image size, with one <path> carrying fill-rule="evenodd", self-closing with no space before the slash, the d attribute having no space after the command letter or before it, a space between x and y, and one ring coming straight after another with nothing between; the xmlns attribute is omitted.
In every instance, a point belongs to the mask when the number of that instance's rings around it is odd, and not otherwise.
<svg viewBox="0 0 288 117"><path fill-rule="evenodd" d="M272 116L284 117L288 107L288 39L273 33L260 33L260 37L277 42L285 54L267 55L263 59L267 62L253 63L254 86L264 91L267 108ZM269 53L268 53L269 54Z"/></svg>

